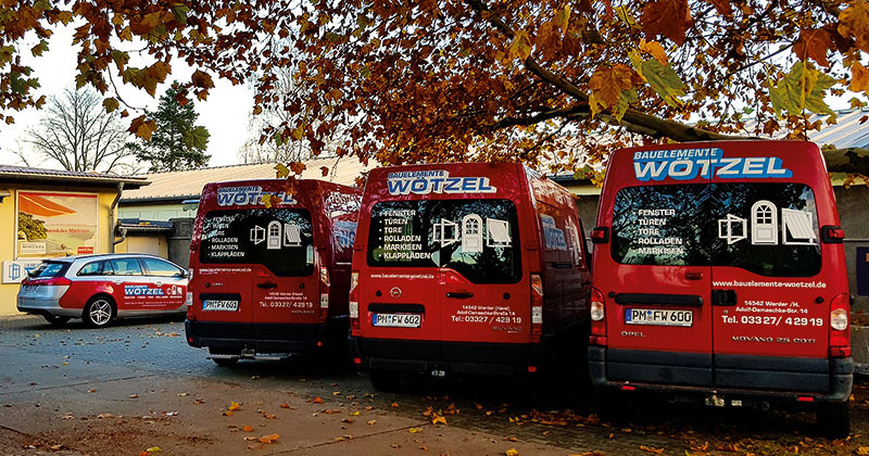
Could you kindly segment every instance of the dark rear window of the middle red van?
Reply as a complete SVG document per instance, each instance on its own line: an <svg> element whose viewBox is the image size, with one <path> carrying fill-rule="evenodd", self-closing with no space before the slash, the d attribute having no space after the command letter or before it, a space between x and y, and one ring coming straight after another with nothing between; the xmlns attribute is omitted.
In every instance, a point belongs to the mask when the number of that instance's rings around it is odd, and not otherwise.
<svg viewBox="0 0 869 456"><path fill-rule="evenodd" d="M509 200L385 201L371 210L368 265L448 267L473 283L516 283L519 245Z"/></svg>

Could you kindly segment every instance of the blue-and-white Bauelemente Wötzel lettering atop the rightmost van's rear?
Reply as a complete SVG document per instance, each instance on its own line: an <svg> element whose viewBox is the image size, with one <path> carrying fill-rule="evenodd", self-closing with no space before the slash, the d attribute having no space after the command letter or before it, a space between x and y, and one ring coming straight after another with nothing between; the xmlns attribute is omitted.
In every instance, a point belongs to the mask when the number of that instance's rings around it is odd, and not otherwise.
<svg viewBox="0 0 869 456"><path fill-rule="evenodd" d="M777 156L725 157L718 148L640 151L633 154L633 173L638 180L689 180L696 177L774 178L791 177Z"/></svg>

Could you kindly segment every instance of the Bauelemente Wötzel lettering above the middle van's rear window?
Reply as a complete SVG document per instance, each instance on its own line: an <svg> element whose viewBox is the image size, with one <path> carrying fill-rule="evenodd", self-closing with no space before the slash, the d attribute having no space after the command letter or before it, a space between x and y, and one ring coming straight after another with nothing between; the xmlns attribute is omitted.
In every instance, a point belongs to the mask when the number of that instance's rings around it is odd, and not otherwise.
<svg viewBox="0 0 869 456"><path fill-rule="evenodd" d="M390 173L387 176L390 194L429 193L494 193L488 177L450 177L443 169Z"/></svg>

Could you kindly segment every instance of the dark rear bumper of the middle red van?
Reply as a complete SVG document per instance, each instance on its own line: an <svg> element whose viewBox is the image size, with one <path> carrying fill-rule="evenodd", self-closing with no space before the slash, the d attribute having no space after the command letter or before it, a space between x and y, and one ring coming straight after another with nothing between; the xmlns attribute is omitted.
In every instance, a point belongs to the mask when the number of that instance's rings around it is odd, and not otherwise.
<svg viewBox="0 0 869 456"><path fill-rule="evenodd" d="M484 343L349 338L351 357L362 370L407 373L501 375L528 372L542 347L531 343Z"/></svg>

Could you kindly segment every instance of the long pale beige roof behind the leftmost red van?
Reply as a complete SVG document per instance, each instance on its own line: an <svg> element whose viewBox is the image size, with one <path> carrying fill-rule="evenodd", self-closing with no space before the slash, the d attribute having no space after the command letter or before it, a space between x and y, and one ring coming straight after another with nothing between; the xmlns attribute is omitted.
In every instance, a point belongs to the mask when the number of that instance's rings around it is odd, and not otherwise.
<svg viewBox="0 0 869 456"><path fill-rule="evenodd" d="M356 178L374 167L364 166L355 157L316 159L303 162L305 170L301 179L323 179L345 186L354 186ZM275 163L259 165L231 165L213 168L193 169L186 172L156 173L146 176L151 185L133 191L125 191L121 198L122 203L138 202L181 202L188 199L199 199L202 188L209 182L223 182L231 180L274 179L277 177ZM323 176L322 167L328 169L328 175Z"/></svg>

